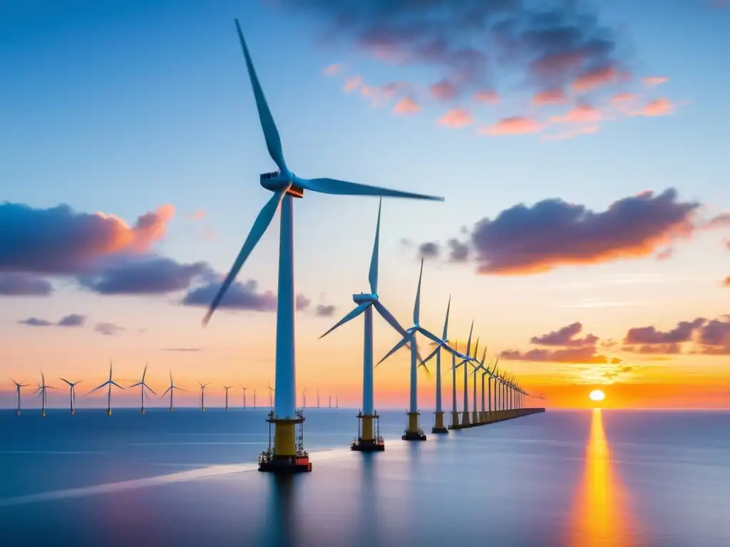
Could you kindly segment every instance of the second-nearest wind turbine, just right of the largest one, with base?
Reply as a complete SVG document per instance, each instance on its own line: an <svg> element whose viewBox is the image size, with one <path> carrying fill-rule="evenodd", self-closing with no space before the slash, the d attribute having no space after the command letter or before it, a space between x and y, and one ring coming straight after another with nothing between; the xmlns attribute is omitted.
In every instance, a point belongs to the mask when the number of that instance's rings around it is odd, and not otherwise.
<svg viewBox="0 0 730 547"><path fill-rule="evenodd" d="M364 343L363 343L363 406L362 411L358 414L362 427L358 435L358 441L353 443L351 448L358 451L381 451L385 449L385 443L380 439L380 435L375 435L374 422L380 420L380 416L375 413L374 403L374 374L372 362L372 310L373 308L380 314L380 317L388 322L393 329L398 331L401 336L407 336L406 331L401 327L400 323L393 317L388 309L380 302L380 296L377 294L377 270L378 257L380 255L380 212L383 209L383 198L380 198L380 204L377 207L377 224L375 225L375 242L372 247L372 256L370 257L370 270L368 274L368 282L370 284L370 292L361 292L353 295L353 301L357 304L353 311L342 317L334 327L331 327L326 333L320 336L324 338L333 330L345 325L345 323L355 319L360 314L364 314ZM339 405L338 405L339 406ZM380 427L378 427L380 430Z"/></svg>

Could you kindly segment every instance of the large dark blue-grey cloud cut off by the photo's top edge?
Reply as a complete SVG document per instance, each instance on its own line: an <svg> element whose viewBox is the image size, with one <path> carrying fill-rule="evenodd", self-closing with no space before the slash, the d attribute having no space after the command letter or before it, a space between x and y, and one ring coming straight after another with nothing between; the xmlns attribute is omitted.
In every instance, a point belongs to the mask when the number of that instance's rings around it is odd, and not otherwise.
<svg viewBox="0 0 730 547"><path fill-rule="evenodd" d="M347 42L377 60L429 66L457 93L492 83L497 69L539 88L596 85L620 73L612 28L579 3L529 0L280 0L291 12L315 14L322 38ZM512 79L512 78L510 78ZM601 80L603 81L603 80ZM584 84L582 82L589 82Z"/></svg>

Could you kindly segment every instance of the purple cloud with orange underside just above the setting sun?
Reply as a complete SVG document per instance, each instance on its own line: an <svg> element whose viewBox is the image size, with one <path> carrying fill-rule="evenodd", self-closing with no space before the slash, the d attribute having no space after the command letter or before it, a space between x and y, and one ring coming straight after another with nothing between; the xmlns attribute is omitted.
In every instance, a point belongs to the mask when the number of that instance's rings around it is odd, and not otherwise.
<svg viewBox="0 0 730 547"><path fill-rule="evenodd" d="M607 357L597 353L599 343L597 336L588 334L583 338L575 338L582 330L583 325L575 322L548 334L531 338L531 344L548 346L550 349L534 348L526 352L507 349L499 357L512 361L583 363L586 365L618 365L623 362L618 357Z"/></svg>

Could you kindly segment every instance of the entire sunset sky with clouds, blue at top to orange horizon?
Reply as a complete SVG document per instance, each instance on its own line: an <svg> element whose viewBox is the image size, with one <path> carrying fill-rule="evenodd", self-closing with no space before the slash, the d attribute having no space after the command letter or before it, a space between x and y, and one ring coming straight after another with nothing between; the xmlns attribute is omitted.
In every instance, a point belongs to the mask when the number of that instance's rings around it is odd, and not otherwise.
<svg viewBox="0 0 730 547"><path fill-rule="evenodd" d="M177 404L198 381L211 405L221 384L267 399L276 220L201 327L276 168L234 18L296 174L445 198L383 200L379 295L402 325L423 258L421 324L440 334L450 298L448 338L463 351L473 320L478 357L545 395L529 404L600 387L607 407L730 406L730 6L712 0L0 3L0 406L9 378L37 406L41 370L65 405L59 378L82 395L110 362L123 386L148 363L158 393L172 371ZM361 405L362 319L319 336L369 291L377 206L296 200L299 404ZM398 340L375 319L376 360ZM409 367L406 349L377 367L376 408L407 406Z"/></svg>

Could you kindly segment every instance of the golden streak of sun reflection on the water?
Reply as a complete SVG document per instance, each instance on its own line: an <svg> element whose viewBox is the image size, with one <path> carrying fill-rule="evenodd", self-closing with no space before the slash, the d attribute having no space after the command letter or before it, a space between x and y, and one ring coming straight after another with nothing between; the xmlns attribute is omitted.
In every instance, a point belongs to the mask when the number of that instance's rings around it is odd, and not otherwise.
<svg viewBox="0 0 730 547"><path fill-rule="evenodd" d="M572 511L572 547L632 547L629 505L616 476L600 408L593 409L585 471Z"/></svg>

